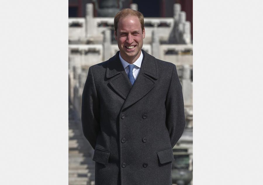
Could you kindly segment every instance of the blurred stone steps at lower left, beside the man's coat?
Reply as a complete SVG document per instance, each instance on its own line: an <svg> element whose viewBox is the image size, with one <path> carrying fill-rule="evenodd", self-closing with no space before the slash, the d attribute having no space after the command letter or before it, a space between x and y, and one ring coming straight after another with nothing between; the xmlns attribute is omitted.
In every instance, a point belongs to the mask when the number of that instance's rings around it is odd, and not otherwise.
<svg viewBox="0 0 263 185"><path fill-rule="evenodd" d="M70 105L70 103L69 103ZM74 118L73 106L69 106L68 129L68 177L69 185L95 185L95 162L93 149L83 135L79 119Z"/></svg>

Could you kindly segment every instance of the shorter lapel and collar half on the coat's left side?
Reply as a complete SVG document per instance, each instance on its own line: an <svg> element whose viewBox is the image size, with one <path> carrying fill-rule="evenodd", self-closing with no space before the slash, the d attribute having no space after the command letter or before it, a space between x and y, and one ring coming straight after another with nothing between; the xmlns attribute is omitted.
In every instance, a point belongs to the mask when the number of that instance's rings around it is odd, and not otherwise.
<svg viewBox="0 0 263 185"><path fill-rule="evenodd" d="M132 85L120 61L119 52L109 59L106 77L110 78L111 87L125 100Z"/></svg>

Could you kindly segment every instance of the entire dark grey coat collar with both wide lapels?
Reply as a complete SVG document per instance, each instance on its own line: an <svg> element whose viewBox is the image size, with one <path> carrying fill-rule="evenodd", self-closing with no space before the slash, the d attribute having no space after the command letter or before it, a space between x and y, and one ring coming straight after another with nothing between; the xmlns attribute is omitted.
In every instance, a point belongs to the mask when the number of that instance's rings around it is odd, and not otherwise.
<svg viewBox="0 0 263 185"><path fill-rule="evenodd" d="M110 78L110 86L125 100L122 109L131 106L148 94L158 79L156 58L142 51L144 55L141 70L133 86L121 64L119 51L108 61L106 77Z"/></svg>

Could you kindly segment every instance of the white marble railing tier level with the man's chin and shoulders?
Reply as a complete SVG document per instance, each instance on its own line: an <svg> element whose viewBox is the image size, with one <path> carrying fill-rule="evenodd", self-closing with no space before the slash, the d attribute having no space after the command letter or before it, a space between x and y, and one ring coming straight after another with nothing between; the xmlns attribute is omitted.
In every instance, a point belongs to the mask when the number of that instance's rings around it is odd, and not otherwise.
<svg viewBox="0 0 263 185"><path fill-rule="evenodd" d="M153 46L151 44L143 44L143 48L147 53L153 55ZM75 51L75 52L74 52ZM117 44L110 44L109 55L114 56L119 51ZM69 57L75 65L91 66L96 63L103 62L107 59L103 56L103 44L69 44ZM159 57L160 60L174 63L175 65L193 65L193 45L192 44L160 44Z"/></svg>

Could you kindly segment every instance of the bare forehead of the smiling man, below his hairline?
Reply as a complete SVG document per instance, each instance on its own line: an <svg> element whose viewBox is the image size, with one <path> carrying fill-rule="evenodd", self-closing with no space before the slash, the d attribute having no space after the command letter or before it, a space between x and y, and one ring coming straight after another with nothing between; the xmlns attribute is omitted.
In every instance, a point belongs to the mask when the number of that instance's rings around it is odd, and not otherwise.
<svg viewBox="0 0 263 185"><path fill-rule="evenodd" d="M141 29L141 23L139 18L136 16L122 17L118 21L117 29Z"/></svg>

